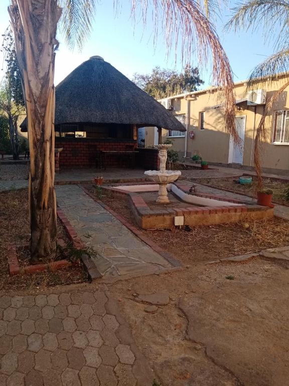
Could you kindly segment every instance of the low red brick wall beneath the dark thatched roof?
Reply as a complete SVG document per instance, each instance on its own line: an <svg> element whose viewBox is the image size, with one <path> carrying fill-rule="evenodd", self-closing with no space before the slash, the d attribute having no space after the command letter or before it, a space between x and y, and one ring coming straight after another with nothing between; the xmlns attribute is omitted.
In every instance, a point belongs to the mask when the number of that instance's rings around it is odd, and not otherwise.
<svg viewBox="0 0 289 386"><path fill-rule="evenodd" d="M94 167L97 151L125 151L126 145L132 144L136 147L136 141L133 139L55 138L55 147L63 148L59 156L60 169L69 166ZM107 166L120 167L120 157L109 155Z"/></svg>

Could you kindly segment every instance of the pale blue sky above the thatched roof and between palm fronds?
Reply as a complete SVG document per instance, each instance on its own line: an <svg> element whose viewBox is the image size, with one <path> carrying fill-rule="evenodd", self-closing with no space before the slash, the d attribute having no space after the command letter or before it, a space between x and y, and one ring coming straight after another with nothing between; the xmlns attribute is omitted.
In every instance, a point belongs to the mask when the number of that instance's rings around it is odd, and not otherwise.
<svg viewBox="0 0 289 386"><path fill-rule="evenodd" d="M0 33L2 34L9 25L7 7L9 0L0 0ZM261 31L248 31L235 34L224 32L223 26L231 15L230 8L237 2L230 1L227 7L223 7L220 18L216 21L216 31L221 44L229 58L234 81L238 82L248 77L250 70L273 53L273 44L265 42ZM148 15L147 25L143 27L137 20L134 25L130 18L130 0L119 0L117 12L113 8L113 0L99 0L93 31L79 52L75 49L71 52L62 36L58 36L60 42L55 63L55 84L58 84L74 68L90 56L99 55L105 61L116 67L124 75L132 78L135 72L150 73L155 66L171 68L181 71L183 63L180 51L177 61L175 52L167 56L166 45L162 34L159 33L157 43L154 44L154 25ZM1 54L1 53L0 53ZM2 62L2 57L0 57ZM197 65L197 59L192 56L192 65ZM199 66L201 77L205 84L210 85L210 66ZM1 74L0 74L0 77Z"/></svg>

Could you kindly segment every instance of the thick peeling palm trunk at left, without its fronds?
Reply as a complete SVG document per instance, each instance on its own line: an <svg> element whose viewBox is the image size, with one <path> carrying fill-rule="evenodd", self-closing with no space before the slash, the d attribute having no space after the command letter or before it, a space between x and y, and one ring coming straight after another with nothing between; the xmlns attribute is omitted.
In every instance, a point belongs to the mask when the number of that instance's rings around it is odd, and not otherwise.
<svg viewBox="0 0 289 386"><path fill-rule="evenodd" d="M12 0L9 13L26 101L30 148L31 257L50 258L56 249L54 191L54 63L57 0Z"/></svg>

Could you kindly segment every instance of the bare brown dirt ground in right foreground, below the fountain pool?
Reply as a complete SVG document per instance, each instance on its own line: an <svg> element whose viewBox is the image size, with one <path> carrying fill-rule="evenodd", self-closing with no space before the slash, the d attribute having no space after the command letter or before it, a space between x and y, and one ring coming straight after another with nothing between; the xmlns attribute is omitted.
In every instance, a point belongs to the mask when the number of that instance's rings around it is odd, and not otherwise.
<svg viewBox="0 0 289 386"><path fill-rule="evenodd" d="M98 198L133 222L128 205ZM135 224L134 224L135 225ZM289 263L217 258L289 245L289 222L244 219L189 231L144 231L182 263L109 285L162 386L285 386L289 376ZM166 293L155 314L137 294Z"/></svg>

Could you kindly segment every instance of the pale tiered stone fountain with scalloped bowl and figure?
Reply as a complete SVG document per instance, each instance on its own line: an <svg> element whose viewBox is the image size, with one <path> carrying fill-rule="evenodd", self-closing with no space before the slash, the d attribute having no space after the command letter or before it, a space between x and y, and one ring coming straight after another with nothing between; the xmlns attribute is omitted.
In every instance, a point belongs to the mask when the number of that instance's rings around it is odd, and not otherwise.
<svg viewBox="0 0 289 386"><path fill-rule="evenodd" d="M170 200L168 198L167 185L170 182L176 181L176 179L182 174L180 170L166 170L166 163L168 158L168 149L173 145L156 145L155 147L159 149L159 158L160 158L160 170L147 170L145 174L150 177L150 179L159 184L159 196L157 203L159 204L169 204Z"/></svg>

